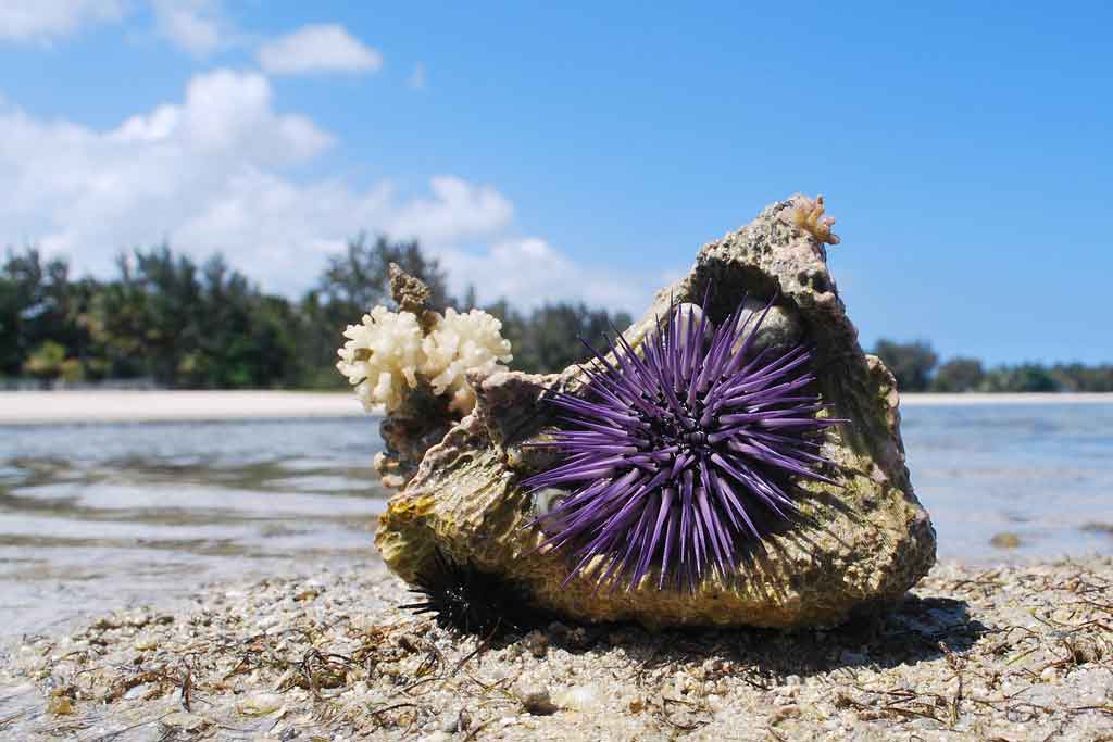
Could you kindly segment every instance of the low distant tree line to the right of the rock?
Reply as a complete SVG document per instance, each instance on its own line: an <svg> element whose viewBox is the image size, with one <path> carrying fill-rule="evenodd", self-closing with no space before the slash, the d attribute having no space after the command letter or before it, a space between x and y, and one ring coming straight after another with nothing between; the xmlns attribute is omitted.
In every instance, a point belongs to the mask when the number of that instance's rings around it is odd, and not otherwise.
<svg viewBox="0 0 1113 742"><path fill-rule="evenodd" d="M874 347L902 392L1113 392L1113 364L1023 363L986 368L977 358L939 357L926 340Z"/></svg>

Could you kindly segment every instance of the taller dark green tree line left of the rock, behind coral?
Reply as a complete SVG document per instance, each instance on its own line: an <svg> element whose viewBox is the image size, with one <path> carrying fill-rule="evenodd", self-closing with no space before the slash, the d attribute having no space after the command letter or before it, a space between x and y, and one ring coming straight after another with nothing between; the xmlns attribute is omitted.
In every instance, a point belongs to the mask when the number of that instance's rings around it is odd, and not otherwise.
<svg viewBox="0 0 1113 742"><path fill-rule="evenodd" d="M162 245L121 254L108 279L75 277L63 258L8 249L0 266L0 380L43 385L144 380L171 388L339 388L341 333L390 304L387 267L400 264L431 288L434 308L471 308L450 296L445 271L416 241L361 235L332 256L313 287L290 299L259 289L215 255L195 261ZM629 315L582 304L499 316L515 368L582 362L578 337L624 329Z"/></svg>

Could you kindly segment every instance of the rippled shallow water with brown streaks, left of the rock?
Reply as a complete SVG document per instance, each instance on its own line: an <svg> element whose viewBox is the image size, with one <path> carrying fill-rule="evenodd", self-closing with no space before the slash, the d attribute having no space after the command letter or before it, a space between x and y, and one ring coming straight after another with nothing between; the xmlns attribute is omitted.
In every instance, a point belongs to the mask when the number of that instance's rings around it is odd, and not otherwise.
<svg viewBox="0 0 1113 742"><path fill-rule="evenodd" d="M373 553L375 419L0 427L0 634Z"/></svg>

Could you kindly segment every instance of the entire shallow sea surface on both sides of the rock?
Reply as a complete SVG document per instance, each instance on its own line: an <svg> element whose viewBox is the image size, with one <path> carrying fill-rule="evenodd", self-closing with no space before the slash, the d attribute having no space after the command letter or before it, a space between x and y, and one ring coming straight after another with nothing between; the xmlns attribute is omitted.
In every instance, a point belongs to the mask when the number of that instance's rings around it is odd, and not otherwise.
<svg viewBox="0 0 1113 742"><path fill-rule="evenodd" d="M1113 404L903 414L942 557L1113 554ZM206 583L374 560L377 427L0 427L0 635L181 598Z"/></svg>

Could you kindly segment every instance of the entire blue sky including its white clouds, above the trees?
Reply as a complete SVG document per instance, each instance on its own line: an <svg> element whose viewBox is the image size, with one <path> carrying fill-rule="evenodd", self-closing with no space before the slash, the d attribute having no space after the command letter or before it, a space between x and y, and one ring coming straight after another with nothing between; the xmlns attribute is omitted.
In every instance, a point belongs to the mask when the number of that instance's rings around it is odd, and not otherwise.
<svg viewBox="0 0 1113 742"><path fill-rule="evenodd" d="M1107 3L3 4L0 243L293 293L366 228L638 311L820 192L864 345L1113 362Z"/></svg>

